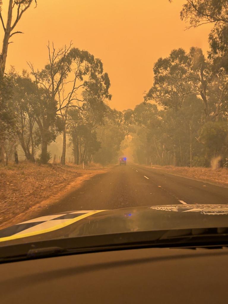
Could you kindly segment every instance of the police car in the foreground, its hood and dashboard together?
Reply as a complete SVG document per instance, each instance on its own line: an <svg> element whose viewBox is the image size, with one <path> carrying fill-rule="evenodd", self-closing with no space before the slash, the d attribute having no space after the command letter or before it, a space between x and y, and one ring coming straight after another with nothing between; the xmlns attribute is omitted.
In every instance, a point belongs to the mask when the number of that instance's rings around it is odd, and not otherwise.
<svg viewBox="0 0 228 304"><path fill-rule="evenodd" d="M0 246L1 304L228 296L228 205L60 212L0 230Z"/></svg>

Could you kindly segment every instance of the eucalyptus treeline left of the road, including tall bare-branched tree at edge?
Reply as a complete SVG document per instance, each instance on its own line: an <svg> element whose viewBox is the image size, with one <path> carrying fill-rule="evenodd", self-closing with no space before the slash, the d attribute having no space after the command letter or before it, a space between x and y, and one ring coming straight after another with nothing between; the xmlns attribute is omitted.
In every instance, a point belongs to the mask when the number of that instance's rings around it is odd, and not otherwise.
<svg viewBox="0 0 228 304"><path fill-rule="evenodd" d="M61 164L65 164L67 142L74 162L107 164L116 156L125 133L123 114L110 109L110 81L102 61L78 48L56 49L48 43L47 64L41 69L28 63L21 74L5 72L10 38L22 14L36 0L9 0L8 19L0 54L0 162L12 157L18 147L28 161L46 164L50 143L62 136ZM13 16L16 13L16 19ZM68 139L67 139L68 136ZM98 152L99 151L99 152Z"/></svg>

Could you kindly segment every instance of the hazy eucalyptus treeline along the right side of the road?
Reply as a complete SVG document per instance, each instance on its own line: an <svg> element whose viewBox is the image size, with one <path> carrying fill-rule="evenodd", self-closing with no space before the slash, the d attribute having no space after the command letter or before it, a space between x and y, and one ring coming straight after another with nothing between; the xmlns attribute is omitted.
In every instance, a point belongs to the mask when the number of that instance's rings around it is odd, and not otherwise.
<svg viewBox="0 0 228 304"><path fill-rule="evenodd" d="M135 161L178 166L228 166L228 2L187 0L190 27L213 23L210 51L172 50L154 64L144 102L125 113L135 126Z"/></svg>

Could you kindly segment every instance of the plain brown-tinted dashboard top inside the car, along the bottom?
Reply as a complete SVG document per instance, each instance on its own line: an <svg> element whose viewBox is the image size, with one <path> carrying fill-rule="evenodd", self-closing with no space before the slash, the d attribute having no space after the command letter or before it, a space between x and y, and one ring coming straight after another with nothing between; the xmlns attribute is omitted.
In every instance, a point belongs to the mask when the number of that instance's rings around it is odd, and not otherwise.
<svg viewBox="0 0 228 304"><path fill-rule="evenodd" d="M147 248L0 264L1 304L225 303L228 249Z"/></svg>

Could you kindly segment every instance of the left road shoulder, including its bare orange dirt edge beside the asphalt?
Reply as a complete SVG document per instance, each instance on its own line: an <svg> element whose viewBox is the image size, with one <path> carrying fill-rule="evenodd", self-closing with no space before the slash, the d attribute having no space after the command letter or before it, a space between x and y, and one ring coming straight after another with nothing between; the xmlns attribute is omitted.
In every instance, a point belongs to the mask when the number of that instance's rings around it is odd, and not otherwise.
<svg viewBox="0 0 228 304"><path fill-rule="evenodd" d="M111 167L110 167L111 168ZM0 228L36 217L42 208L63 199L82 183L108 168L36 165L0 168Z"/></svg>

